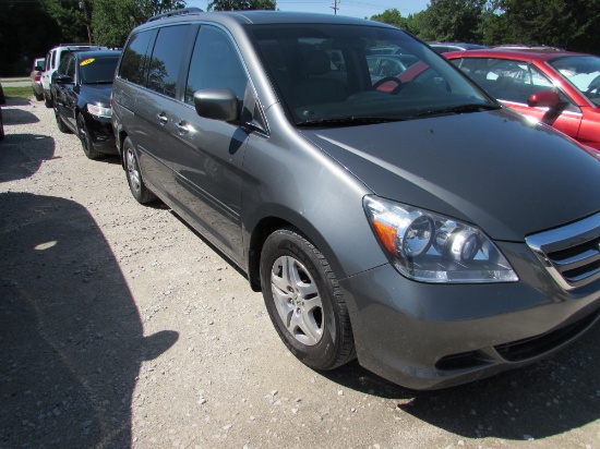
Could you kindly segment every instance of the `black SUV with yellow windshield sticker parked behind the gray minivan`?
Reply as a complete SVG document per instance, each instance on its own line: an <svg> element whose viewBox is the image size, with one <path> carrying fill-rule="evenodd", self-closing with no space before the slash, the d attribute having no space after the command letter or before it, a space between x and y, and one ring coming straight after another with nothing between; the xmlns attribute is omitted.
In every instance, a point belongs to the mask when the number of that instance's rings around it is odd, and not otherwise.
<svg viewBox="0 0 600 449"><path fill-rule="evenodd" d="M110 93L121 51L67 53L52 75L58 129L74 132L89 159L116 154Z"/></svg>

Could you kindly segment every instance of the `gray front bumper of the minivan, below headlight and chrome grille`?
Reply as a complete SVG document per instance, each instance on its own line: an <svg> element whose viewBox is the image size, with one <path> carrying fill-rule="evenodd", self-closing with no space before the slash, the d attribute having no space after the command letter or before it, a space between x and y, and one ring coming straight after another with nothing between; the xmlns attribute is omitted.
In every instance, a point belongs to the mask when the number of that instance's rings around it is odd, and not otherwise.
<svg viewBox="0 0 600 449"><path fill-rule="evenodd" d="M429 284L384 265L340 282L361 365L396 384L435 389L545 357L600 316L600 280L565 291L524 244L502 244L519 281Z"/></svg>

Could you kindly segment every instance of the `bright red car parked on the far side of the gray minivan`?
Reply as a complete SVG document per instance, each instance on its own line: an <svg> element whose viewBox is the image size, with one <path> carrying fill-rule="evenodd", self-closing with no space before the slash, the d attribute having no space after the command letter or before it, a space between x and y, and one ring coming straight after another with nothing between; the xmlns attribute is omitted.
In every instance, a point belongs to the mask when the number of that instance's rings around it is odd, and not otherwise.
<svg viewBox="0 0 600 449"><path fill-rule="evenodd" d="M490 95L600 151L600 58L556 50L446 53Z"/></svg>

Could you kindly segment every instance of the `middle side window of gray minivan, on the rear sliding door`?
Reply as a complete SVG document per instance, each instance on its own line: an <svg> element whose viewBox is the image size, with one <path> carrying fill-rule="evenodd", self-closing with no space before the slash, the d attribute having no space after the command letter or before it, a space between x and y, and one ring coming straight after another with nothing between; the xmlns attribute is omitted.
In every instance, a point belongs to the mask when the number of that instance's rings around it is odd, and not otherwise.
<svg viewBox="0 0 600 449"><path fill-rule="evenodd" d="M190 28L191 25L160 28L149 62L148 88L175 98Z"/></svg>

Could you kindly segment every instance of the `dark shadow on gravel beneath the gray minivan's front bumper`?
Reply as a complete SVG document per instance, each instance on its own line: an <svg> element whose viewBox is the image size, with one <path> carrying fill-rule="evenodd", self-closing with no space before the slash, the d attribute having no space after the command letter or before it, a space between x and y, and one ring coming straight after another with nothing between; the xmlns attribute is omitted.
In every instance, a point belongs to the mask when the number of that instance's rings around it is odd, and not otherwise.
<svg viewBox="0 0 600 449"><path fill-rule="evenodd" d="M442 390L406 389L357 362L324 375L347 388L396 401L399 414L467 438L541 439L600 417L599 330L596 325L579 341L537 364Z"/></svg>

